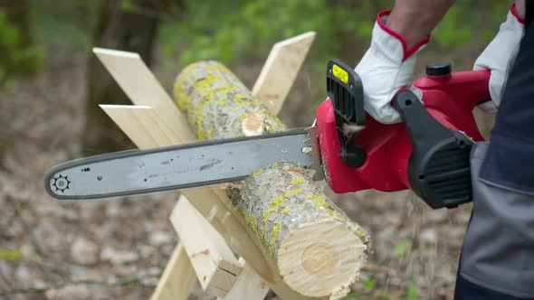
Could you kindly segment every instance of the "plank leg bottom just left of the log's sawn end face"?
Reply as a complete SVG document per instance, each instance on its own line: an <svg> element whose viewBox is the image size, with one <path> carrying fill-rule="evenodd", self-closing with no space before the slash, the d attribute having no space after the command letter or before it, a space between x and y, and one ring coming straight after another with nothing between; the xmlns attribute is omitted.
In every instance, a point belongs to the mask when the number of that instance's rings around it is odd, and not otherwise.
<svg viewBox="0 0 534 300"><path fill-rule="evenodd" d="M237 277L232 290L224 297L224 300L264 299L267 293L269 293L269 286L267 286L262 277L243 258L239 261L243 264L243 270L239 277Z"/></svg>

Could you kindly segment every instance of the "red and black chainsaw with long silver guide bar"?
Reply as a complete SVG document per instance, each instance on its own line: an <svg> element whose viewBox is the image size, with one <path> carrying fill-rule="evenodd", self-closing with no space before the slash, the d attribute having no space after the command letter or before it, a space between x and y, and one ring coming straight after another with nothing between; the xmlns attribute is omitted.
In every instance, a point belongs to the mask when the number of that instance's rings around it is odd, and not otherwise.
<svg viewBox="0 0 534 300"><path fill-rule="evenodd" d="M453 208L472 201L469 156L483 140L472 110L490 99L490 71L431 63L426 75L414 83L423 103L400 90L392 105L404 122L384 125L364 110L358 74L329 61L328 98L311 127L81 158L53 167L44 185L60 201L109 198L240 181L291 161L333 192L411 189L433 209Z"/></svg>

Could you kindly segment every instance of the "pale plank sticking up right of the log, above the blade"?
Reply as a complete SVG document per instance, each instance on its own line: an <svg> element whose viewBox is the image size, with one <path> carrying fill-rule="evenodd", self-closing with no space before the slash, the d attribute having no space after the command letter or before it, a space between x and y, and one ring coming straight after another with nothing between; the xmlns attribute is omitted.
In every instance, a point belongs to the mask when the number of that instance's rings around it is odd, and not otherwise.
<svg viewBox="0 0 534 300"><path fill-rule="evenodd" d="M314 32L302 33L272 46L254 84L253 95L273 114L280 112L314 39Z"/></svg>

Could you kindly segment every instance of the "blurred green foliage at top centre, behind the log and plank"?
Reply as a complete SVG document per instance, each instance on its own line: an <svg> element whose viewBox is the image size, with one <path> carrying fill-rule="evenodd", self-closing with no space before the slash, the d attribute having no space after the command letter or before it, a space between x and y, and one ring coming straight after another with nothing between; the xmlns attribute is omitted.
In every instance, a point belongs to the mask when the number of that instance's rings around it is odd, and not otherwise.
<svg viewBox="0 0 534 300"><path fill-rule="evenodd" d="M327 0L188 0L186 7L185 20L164 24L160 32L163 52L179 55L182 65L205 59L227 64L264 59L274 42L308 31L318 33L314 50L322 60L350 42L346 37L370 36L376 14Z"/></svg>

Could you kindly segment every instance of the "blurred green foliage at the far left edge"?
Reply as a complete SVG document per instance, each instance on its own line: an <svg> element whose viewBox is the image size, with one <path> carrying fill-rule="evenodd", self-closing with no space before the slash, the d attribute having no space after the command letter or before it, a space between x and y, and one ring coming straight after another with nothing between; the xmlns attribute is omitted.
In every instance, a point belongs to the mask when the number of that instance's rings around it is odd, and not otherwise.
<svg viewBox="0 0 534 300"><path fill-rule="evenodd" d="M24 45L22 33L0 9L0 83L11 74L34 74L41 70L43 51Z"/></svg>

